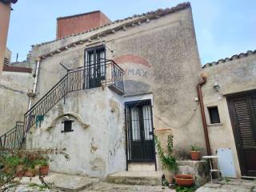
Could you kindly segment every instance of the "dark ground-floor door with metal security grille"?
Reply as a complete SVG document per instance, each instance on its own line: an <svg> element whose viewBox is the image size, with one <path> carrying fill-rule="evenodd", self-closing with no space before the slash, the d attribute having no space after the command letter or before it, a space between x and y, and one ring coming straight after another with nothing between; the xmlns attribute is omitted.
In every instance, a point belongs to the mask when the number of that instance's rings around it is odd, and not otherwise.
<svg viewBox="0 0 256 192"><path fill-rule="evenodd" d="M155 162L150 100L126 102L127 162Z"/></svg>

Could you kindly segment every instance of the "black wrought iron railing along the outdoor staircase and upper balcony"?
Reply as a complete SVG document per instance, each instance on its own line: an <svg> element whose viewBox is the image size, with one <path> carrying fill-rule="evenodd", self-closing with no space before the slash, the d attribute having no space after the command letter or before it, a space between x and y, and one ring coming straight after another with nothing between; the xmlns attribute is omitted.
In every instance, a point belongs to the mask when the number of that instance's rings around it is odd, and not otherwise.
<svg viewBox="0 0 256 192"><path fill-rule="evenodd" d="M6 148L20 146L22 139L26 138L27 131L34 126L38 117L46 114L69 92L99 86L114 86L119 93L124 93L123 75L123 70L114 61L106 59L86 62L85 66L67 70L67 74L26 112L24 122L19 122L22 126L17 124L14 129L1 136L0 146Z"/></svg>

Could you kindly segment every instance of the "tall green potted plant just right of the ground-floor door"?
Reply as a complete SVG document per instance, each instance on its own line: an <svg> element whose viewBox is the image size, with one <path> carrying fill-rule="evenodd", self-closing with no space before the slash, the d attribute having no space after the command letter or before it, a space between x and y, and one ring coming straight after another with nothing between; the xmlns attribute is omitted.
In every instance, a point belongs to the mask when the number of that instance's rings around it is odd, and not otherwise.
<svg viewBox="0 0 256 192"><path fill-rule="evenodd" d="M161 147L161 143L158 140L158 137L155 135L154 136L154 142L158 150L158 155L160 158L160 161L162 163L162 166L164 169L170 170L170 171L177 171L178 170L178 164L176 161L176 158L173 155L173 149L174 149L174 144L173 144L173 135L168 135L167 138L167 153L164 153Z"/></svg>

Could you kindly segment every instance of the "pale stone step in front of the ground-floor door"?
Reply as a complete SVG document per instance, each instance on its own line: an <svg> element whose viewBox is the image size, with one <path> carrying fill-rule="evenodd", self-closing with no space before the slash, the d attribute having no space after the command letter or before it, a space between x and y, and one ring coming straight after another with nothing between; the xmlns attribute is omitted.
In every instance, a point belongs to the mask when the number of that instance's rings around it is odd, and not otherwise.
<svg viewBox="0 0 256 192"><path fill-rule="evenodd" d="M110 174L107 181L116 184L161 186L162 171L122 171Z"/></svg>

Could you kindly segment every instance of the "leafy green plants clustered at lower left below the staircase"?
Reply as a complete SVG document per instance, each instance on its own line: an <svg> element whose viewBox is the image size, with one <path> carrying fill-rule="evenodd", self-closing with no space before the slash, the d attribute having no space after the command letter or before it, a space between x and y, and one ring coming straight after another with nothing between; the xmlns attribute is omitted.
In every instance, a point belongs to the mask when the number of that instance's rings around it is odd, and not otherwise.
<svg viewBox="0 0 256 192"><path fill-rule="evenodd" d="M33 172L34 166L47 166L48 162L54 161L53 156L57 154L63 155L67 161L70 160L66 149L7 150L0 148L0 191L9 191L18 186L22 178L22 174L18 174L19 166L22 166L22 170ZM40 176L39 179L43 186L50 188L50 184L44 182L43 177Z"/></svg>

